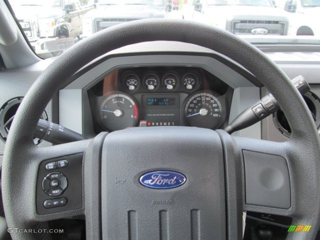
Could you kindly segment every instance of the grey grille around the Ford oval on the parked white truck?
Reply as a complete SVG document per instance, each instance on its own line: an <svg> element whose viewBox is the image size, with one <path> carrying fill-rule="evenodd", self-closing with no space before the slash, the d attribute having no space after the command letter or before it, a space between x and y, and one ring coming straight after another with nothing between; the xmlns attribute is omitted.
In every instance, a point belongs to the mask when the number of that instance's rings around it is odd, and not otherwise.
<svg viewBox="0 0 320 240"><path fill-rule="evenodd" d="M284 21L265 21L265 20L233 20L231 32L239 35L252 35L252 29L265 28L267 35L285 35L286 22Z"/></svg>

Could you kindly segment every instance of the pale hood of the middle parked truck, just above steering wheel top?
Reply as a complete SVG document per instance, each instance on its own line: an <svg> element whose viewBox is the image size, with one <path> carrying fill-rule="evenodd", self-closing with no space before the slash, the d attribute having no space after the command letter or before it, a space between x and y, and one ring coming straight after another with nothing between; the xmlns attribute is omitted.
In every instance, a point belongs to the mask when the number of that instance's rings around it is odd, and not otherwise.
<svg viewBox="0 0 320 240"><path fill-rule="evenodd" d="M87 12L85 18L164 18L164 7L152 5L101 5Z"/></svg>

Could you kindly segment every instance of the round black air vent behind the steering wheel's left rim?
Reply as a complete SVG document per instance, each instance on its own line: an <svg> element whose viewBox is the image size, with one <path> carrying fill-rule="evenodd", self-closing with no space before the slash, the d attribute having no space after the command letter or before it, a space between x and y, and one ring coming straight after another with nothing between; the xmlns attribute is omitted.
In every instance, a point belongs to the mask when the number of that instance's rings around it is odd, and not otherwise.
<svg viewBox="0 0 320 240"><path fill-rule="evenodd" d="M8 133L12 124L12 120L14 115L16 114L20 103L23 97L13 98L7 101L1 108L0 108L0 138L4 142L7 140ZM48 115L44 111L41 119L48 120ZM42 140L35 138L35 144L39 144Z"/></svg>

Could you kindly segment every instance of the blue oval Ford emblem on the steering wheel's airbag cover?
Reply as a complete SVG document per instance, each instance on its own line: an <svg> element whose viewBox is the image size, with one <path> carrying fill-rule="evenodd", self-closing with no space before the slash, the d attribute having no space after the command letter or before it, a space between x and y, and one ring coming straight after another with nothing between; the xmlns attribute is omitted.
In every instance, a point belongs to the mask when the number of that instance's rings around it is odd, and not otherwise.
<svg viewBox="0 0 320 240"><path fill-rule="evenodd" d="M147 172L140 177L140 183L147 188L177 188L186 182L186 177L179 172L155 171Z"/></svg>

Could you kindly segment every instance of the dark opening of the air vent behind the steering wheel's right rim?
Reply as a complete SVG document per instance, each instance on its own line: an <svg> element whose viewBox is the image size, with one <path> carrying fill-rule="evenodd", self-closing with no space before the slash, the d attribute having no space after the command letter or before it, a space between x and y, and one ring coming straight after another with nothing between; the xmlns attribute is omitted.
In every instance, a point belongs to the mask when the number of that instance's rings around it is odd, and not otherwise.
<svg viewBox="0 0 320 240"><path fill-rule="evenodd" d="M320 126L320 102L316 95L311 92L307 92L303 95L303 99L306 101L308 108L310 109L311 115L315 120L316 127L319 129ZM284 116L282 110L278 110L273 115L273 121L278 128L278 130L286 137L291 137L291 128L287 121L287 118Z"/></svg>

